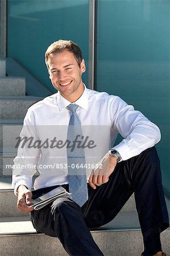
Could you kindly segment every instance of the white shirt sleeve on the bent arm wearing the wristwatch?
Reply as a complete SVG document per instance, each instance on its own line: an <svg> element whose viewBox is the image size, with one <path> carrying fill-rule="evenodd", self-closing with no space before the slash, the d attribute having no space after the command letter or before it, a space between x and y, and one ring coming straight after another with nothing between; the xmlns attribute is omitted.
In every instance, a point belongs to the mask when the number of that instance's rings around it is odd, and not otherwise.
<svg viewBox="0 0 170 256"><path fill-rule="evenodd" d="M122 160L139 155L160 141L159 128L119 97L111 103L110 116L113 120L114 132L124 138L121 143L113 147L119 152Z"/></svg>

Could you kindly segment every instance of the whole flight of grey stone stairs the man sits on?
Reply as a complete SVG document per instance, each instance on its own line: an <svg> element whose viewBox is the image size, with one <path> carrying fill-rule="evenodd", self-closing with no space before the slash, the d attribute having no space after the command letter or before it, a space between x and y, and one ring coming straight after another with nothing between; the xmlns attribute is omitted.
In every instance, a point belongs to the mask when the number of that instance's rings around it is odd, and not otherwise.
<svg viewBox="0 0 170 256"><path fill-rule="evenodd" d="M0 60L0 65L0 79L2 78L2 84L0 83L0 255L68 255L57 238L37 233L31 224L29 214L16 209L16 196L11 187L11 169L6 168L6 164L13 164L14 154L3 148L2 136L7 141L7 147L13 143L10 135L22 126L28 106L40 98L25 96L25 80L16 77L14 80L12 77L8 79L5 77L5 71L2 70L5 68L4 61ZM10 88L14 84L15 92ZM167 204L170 209L168 200ZM134 195L113 221L93 230L92 236L106 256L140 256L143 243ZM169 237L170 229L161 234L163 249L167 256L170 256Z"/></svg>

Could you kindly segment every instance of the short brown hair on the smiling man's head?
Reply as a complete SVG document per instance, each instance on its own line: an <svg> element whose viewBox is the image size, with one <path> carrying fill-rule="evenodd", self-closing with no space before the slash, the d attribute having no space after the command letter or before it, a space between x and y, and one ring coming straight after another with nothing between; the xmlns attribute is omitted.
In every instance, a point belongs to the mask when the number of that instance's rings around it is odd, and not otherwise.
<svg viewBox="0 0 170 256"><path fill-rule="evenodd" d="M77 64L80 67L80 64L82 61L82 52L80 47L76 43L72 42L71 40L60 39L56 42L53 42L45 52L45 64L47 65L47 68L49 68L48 60L51 53L59 53L64 51L65 49L73 53L74 57L76 58Z"/></svg>

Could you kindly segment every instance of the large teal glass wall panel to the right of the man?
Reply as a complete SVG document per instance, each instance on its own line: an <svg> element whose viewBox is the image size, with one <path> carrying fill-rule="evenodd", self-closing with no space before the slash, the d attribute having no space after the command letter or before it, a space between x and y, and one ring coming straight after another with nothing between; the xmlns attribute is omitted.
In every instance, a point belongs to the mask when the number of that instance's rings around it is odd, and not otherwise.
<svg viewBox="0 0 170 256"><path fill-rule="evenodd" d="M134 105L161 130L157 144L170 196L170 1L97 1L96 89Z"/></svg>

